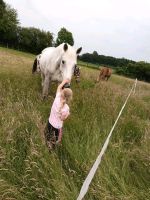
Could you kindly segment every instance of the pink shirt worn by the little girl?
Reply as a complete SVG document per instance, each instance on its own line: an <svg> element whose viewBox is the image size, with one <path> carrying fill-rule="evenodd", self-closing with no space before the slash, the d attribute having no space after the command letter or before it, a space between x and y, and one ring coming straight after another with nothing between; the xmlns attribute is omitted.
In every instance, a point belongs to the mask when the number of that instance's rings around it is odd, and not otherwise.
<svg viewBox="0 0 150 200"><path fill-rule="evenodd" d="M63 127L63 121L61 120L61 117L67 118L69 113L69 106L65 104L63 108L60 110L61 106L61 93L56 93L56 97L54 99L50 116L49 116L49 123L57 129L60 129Z"/></svg>

